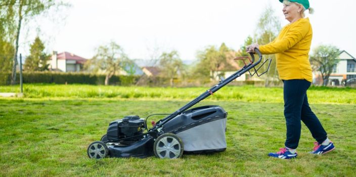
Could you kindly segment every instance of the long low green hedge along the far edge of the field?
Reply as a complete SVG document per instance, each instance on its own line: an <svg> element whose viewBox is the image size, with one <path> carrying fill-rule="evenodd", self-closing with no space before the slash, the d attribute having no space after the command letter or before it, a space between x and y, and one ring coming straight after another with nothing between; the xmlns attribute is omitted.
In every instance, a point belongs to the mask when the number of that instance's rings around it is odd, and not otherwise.
<svg viewBox="0 0 356 177"><path fill-rule="evenodd" d="M19 73L16 83L19 83ZM92 84L104 85L104 74L75 73L75 72L23 72L23 83L56 83L56 84ZM174 86L211 86L215 81L202 81L197 79L174 79ZM11 73L0 73L0 85L11 84ZM140 86L170 86L169 78L142 76L115 75L109 80L110 85L140 85ZM239 81L231 85L256 85L263 86L264 81ZM274 83L279 85L280 83Z"/></svg>

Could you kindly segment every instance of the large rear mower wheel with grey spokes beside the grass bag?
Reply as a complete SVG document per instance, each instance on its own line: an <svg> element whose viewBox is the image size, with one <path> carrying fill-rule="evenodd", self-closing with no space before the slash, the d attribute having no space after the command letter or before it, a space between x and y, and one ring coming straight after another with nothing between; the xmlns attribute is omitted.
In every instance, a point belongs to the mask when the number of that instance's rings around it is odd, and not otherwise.
<svg viewBox="0 0 356 177"><path fill-rule="evenodd" d="M183 142L176 135L166 133L156 139L153 152L159 158L180 158L183 154Z"/></svg>

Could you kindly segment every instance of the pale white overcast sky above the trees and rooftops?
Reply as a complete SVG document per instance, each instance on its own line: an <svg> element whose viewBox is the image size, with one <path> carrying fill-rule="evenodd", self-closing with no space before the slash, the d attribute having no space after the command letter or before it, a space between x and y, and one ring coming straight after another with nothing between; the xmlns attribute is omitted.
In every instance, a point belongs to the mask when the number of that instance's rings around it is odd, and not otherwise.
<svg viewBox="0 0 356 177"><path fill-rule="evenodd" d="M23 25L19 52L28 55L38 35L46 51L70 52L92 58L96 48L115 41L130 59L152 59L176 50L183 60L222 42L238 50L267 6L275 9L282 26L278 0L72 0L71 7L50 11ZM311 49L334 45L356 57L356 1L310 0L315 13L306 16L313 27Z"/></svg>

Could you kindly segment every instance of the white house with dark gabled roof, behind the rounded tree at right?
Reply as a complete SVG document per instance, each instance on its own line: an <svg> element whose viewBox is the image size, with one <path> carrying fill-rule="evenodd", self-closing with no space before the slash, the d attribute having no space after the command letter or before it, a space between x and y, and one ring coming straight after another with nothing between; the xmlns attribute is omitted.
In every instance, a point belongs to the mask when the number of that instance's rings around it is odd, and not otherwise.
<svg viewBox="0 0 356 177"><path fill-rule="evenodd" d="M339 62L334 66L329 77L329 84L340 85L343 81L356 78L356 59L346 51L341 51L337 58ZM313 83L321 84L323 79L320 74L313 74Z"/></svg>

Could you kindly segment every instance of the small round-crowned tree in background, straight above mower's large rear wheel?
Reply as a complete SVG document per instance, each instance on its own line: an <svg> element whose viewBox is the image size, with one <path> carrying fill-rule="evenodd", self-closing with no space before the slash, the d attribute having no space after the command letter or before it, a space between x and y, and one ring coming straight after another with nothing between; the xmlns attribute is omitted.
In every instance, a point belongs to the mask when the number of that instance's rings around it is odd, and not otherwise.
<svg viewBox="0 0 356 177"><path fill-rule="evenodd" d="M183 61L177 51L169 53L163 52L159 57L160 74L169 78L170 86L173 86L173 79L183 70Z"/></svg>

